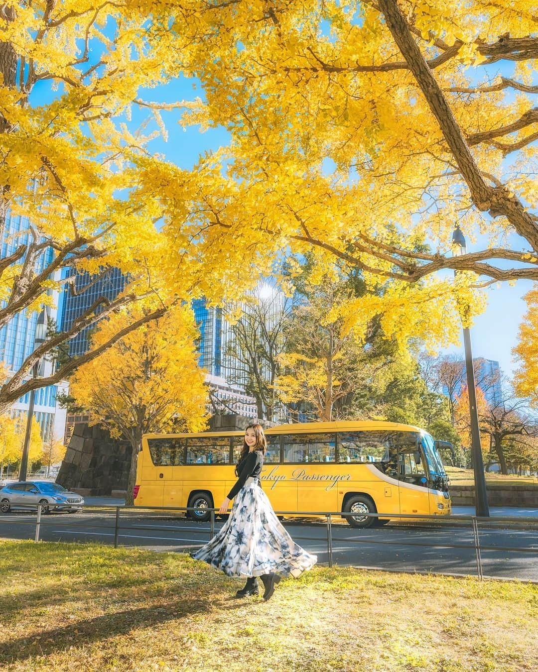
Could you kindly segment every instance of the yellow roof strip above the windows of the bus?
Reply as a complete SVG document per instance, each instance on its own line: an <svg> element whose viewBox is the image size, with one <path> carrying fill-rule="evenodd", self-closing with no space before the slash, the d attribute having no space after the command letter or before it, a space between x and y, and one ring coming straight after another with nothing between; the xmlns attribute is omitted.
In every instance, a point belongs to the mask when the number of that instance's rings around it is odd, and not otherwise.
<svg viewBox="0 0 538 672"><path fill-rule="evenodd" d="M403 425L402 423L389 422L387 420L339 420L336 422L299 422L289 425L276 425L276 427L264 428L264 433L280 434L285 433L312 433L316 431L368 431L369 429L393 429L399 431L424 431L414 425ZM241 436L244 429L235 429L233 431L198 431L182 433L146 433L145 438L160 438L165 436L184 437L184 436Z"/></svg>

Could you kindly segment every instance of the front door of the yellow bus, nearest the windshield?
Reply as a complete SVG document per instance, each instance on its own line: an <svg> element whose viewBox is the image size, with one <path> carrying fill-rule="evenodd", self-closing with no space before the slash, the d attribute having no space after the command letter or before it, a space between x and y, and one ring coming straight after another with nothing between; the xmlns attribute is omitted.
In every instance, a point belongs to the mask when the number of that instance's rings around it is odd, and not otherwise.
<svg viewBox="0 0 538 672"><path fill-rule="evenodd" d="M420 436L412 432L399 433L397 446L397 479L401 513L430 515L428 469Z"/></svg>

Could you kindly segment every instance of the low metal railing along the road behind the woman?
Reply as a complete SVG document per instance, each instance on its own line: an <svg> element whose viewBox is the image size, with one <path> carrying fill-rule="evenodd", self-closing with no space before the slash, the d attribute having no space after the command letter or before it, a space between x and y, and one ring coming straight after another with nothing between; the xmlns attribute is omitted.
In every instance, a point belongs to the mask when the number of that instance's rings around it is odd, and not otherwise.
<svg viewBox="0 0 538 672"><path fill-rule="evenodd" d="M120 539L120 531L121 530L129 530L132 528L129 528L126 525L122 525L122 517L121 517L121 512L122 511L131 511L135 512L137 514L141 514L145 511L161 511L161 512L178 512L178 513L191 513L194 511L193 507L128 507L126 505L85 505L83 507L85 510L89 511L114 511L114 523L112 525L101 525L101 524L95 524L91 523L91 528L92 529L107 529L107 530L114 530L114 533L110 534L110 536L114 536L114 548L118 548L119 546L119 539ZM208 521L196 521L194 519L194 522L209 522L209 530L206 528L204 529L196 529L196 528L189 528L191 534L200 534L200 535L205 535L207 532L209 532L208 538L213 538L215 536L215 515L218 513L219 509L204 509L204 511L207 511L210 516ZM484 527L487 526L488 529L494 529L494 528L503 528L504 530L521 530L522 527L529 528L529 526L533 529L538 530L538 517L514 517L514 516L495 516L495 517L488 517L488 518L483 518L483 517L478 517L475 515L453 515L449 517L440 517L436 515L422 515L422 514L416 514L416 513L398 513L397 515L393 513L360 513L358 515L357 513L344 513L342 511L301 511L300 513L297 511L275 511L277 515L286 515L286 516L292 516L292 517L324 517L324 526L326 528L326 538L327 538L327 554L328 554L328 566L332 567L333 566L333 552L334 552L334 544L333 544L333 528L335 525L338 528L343 528L342 523L334 523L333 517L338 517L338 518L348 518L348 517L360 517L366 518L366 517L374 517L374 518L390 518L392 521L399 521L399 522L409 522L409 523L424 523L427 522L429 523L429 529L434 529L434 528L443 528L447 526L454 526L457 524L460 527L469 528L469 523L471 527L471 532L473 535L473 543L472 544L457 544L457 543L448 543L448 542L442 542L440 544L432 544L430 542L424 542L424 541L391 541L387 539L377 539L373 540L371 537L367 539L361 539L360 537L354 538L354 539L349 539L346 538L346 542L354 542L356 544L361 544L361 543L367 543L367 544L380 544L380 545L387 545L387 546L423 546L427 548L457 548L457 549L473 549L474 554L475 554L475 562L476 562L476 569L477 569L477 577L480 581L484 579L484 573L483 573L483 566L482 566L482 551L486 550L492 550L492 551L505 551L505 552L517 552L517 553L529 553L529 554L536 554L538 556L538 548L533 547L533 548L524 548L521 546L488 546L484 545L480 541L480 536L479 536L479 523L481 523ZM124 519L126 519L124 517ZM1 517L0 517L1 521ZM43 507L42 505L38 505L37 507L37 513L36 513L36 521L19 521L20 524L28 524L28 525L35 525L35 536L34 539L36 542L40 541L40 534L41 534L41 528L42 526L48 526L50 524L58 525L57 521L51 521L48 519L43 518ZM311 524L313 521L309 521L309 524ZM510 526L506 526L506 523L510 523ZM319 523L318 523L319 524ZM68 525L65 526L67 527L72 527L72 524L69 523ZM159 526L155 528L155 526L152 526L151 528L148 526L137 526L137 530L142 532L142 531L151 531L155 532L155 529L159 529ZM164 526L160 526L161 530L165 530L166 528ZM350 529L360 529L360 530L371 530L372 528L348 528L347 526L344 527L346 530ZM378 529L379 528L375 528ZM87 533L91 534L91 533ZM96 533L100 534L100 533ZM320 542L319 537L313 537L313 536L294 536L294 539L296 540L309 540L309 541L315 541L315 542ZM148 537L148 540L151 540L151 537ZM174 541L174 538L167 538L169 541ZM205 543L205 542L203 542ZM196 548L198 546L203 545L202 542L200 544L196 544L194 542L193 544L184 544L184 548ZM380 568L381 569L381 568ZM405 571L404 569L401 569L400 571ZM430 571L430 573L435 574L436 572Z"/></svg>

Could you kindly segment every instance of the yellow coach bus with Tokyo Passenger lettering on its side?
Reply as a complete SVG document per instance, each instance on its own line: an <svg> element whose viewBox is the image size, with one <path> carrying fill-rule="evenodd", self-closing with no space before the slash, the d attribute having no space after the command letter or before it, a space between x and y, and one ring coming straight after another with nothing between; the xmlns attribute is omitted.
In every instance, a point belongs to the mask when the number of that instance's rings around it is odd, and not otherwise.
<svg viewBox="0 0 538 672"><path fill-rule="evenodd" d="M209 519L235 483L243 431L145 434L135 505L190 507ZM317 422L265 430L262 487L275 511L344 511L356 528L399 513L450 515L438 446L424 430L384 421ZM381 513L386 517L368 517Z"/></svg>

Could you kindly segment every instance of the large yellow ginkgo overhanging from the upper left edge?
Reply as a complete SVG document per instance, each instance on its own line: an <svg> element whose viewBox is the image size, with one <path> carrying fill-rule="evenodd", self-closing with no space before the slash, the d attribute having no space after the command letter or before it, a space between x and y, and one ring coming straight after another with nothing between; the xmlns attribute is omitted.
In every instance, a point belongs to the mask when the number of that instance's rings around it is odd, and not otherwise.
<svg viewBox="0 0 538 672"><path fill-rule="evenodd" d="M7 245L0 259L0 328L50 304L54 290L88 290L112 267L130 278L116 300L97 297L69 330L48 338L0 381L0 411L26 392L66 378L198 288L213 287L218 296L237 286L219 284L220 271L212 276L211 266L202 269L196 255L194 264L183 264L177 249L170 255L173 286L155 279L169 249L159 222L172 211L176 222L188 216L186 199L197 190L196 171L166 163L149 145L166 134L162 110L200 107L145 97L177 75L171 55L182 42L159 30L169 21L165 3L155 3L151 13L132 0L0 3L0 245ZM126 124L140 110L153 117L154 130L147 122L139 130ZM11 239L4 235L8 214L26 222ZM77 274L86 271L91 281L75 290ZM100 349L31 378L40 357L156 292L152 310L124 323L122 333L110 333Z"/></svg>

